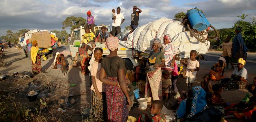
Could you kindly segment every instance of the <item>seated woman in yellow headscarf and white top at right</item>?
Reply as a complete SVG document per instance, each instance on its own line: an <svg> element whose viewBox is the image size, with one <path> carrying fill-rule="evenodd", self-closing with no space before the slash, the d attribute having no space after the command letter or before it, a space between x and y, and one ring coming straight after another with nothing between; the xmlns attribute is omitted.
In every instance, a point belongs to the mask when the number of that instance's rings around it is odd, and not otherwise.
<svg viewBox="0 0 256 122"><path fill-rule="evenodd" d="M245 60L243 58L238 59L238 64L232 73L229 81L221 81L222 86L229 90L244 89L247 84L247 70L244 68Z"/></svg>

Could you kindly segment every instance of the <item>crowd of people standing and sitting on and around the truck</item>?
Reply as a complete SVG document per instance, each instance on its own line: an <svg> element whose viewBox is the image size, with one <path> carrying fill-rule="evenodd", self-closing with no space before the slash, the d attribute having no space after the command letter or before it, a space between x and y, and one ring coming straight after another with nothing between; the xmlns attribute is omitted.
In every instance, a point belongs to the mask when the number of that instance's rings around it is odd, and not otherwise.
<svg viewBox="0 0 256 122"><path fill-rule="evenodd" d="M138 11L136 11L138 9ZM124 59L117 55L119 38L115 37L120 33L120 25L124 22L124 15L120 13L120 7L117 13L112 10L112 31L107 32L106 27L102 27L97 33L94 32L94 17L90 11L87 12L87 25L85 26L85 40L82 40L81 47L78 49L75 60L80 61L82 74L90 72L92 79L92 114L94 121L126 122L129 115L129 106L132 106L132 100L128 93L127 85L131 82L126 78L126 68ZM138 27L139 13L142 10L133 7L131 14L131 29ZM91 29L91 32L90 32ZM196 50L191 50L190 58L181 61L186 67L186 85L188 87L187 96L181 96L176 85L179 77L178 67L175 60L177 48L171 44L171 35L165 35L163 44L156 39L152 43L152 50L146 61L147 68L154 69L146 72L145 98L152 98L150 113L154 114L152 122L164 122L166 117L161 113L163 100L170 100L171 97L181 100L177 108L176 117L180 120L198 120L198 119L229 119L236 117L238 119L251 119L252 112L256 110L256 78L254 84L247 86L248 74L244 65L246 64L246 52L248 49L244 45L241 35L242 28L237 27L237 35L230 42L231 36L222 44L223 53L218 62L215 63L209 74L204 76L204 81L200 86L193 86L196 79L196 73L200 70L200 63L196 60ZM103 50L100 45L105 42L105 48L110 54L102 58ZM93 43L91 47L88 44ZM89 60L88 50L92 50L92 57ZM41 71L41 60L38 54L37 42L32 42L31 48L32 71L39 73ZM225 78L225 67L229 63L237 66L234 68L231 78ZM87 67L87 65L89 66ZM64 76L67 74L69 63L63 54L56 53L54 60L54 69L62 69ZM226 68L227 69L227 68ZM212 85L210 80L221 81L220 84ZM237 105L228 104L221 98L223 89L235 90L248 87L249 93L245 99ZM174 92L175 95L171 94ZM251 94L251 95L249 95ZM182 98L182 99L181 99ZM214 114L213 114L213 113ZM205 114L206 113L206 114ZM207 115L208 118L202 117ZM214 115L214 116L212 116ZM246 117L246 118L245 118ZM146 114L140 115L139 122L150 121ZM204 120L207 121L207 120Z"/></svg>

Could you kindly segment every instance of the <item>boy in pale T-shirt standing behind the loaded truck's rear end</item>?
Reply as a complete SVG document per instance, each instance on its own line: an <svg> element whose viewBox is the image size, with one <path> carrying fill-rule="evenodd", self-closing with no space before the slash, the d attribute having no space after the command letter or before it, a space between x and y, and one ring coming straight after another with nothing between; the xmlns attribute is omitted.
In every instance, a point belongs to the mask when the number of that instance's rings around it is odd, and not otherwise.
<svg viewBox="0 0 256 122"><path fill-rule="evenodd" d="M196 51L191 50L190 51L190 59L187 60L186 63L182 62L183 65L185 65L186 68L186 85L188 89L191 89L193 87L193 83L195 81L196 71L199 71L199 62L195 59L196 57Z"/></svg>

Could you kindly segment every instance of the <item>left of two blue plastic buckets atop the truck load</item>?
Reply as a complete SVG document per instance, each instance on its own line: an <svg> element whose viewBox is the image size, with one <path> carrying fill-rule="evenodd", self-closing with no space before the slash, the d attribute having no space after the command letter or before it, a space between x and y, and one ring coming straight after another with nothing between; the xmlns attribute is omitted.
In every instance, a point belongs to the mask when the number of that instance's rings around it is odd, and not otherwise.
<svg viewBox="0 0 256 122"><path fill-rule="evenodd" d="M187 16L193 29L198 29L202 26L203 24L202 17L198 13L198 10L196 9L189 10L187 13Z"/></svg>

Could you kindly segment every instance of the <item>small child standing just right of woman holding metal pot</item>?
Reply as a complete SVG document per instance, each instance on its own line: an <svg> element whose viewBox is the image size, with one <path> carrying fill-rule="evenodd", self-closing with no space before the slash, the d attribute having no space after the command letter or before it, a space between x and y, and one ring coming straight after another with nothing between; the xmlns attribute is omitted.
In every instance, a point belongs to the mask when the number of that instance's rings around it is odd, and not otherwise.
<svg viewBox="0 0 256 122"><path fill-rule="evenodd" d="M162 75L162 96L166 96L166 98L168 98L168 94L170 93L169 89L171 87L170 72L168 70L164 70Z"/></svg>

